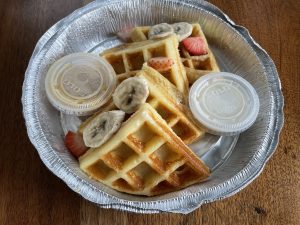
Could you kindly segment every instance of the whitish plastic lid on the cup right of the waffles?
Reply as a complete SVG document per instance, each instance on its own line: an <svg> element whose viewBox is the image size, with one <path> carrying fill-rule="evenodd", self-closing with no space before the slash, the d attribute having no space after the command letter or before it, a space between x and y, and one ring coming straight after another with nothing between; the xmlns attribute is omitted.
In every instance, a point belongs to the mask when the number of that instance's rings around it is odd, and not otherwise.
<svg viewBox="0 0 300 225"><path fill-rule="evenodd" d="M252 85L232 73L210 73L191 87L189 105L195 118L217 135L235 135L256 120L259 99Z"/></svg>

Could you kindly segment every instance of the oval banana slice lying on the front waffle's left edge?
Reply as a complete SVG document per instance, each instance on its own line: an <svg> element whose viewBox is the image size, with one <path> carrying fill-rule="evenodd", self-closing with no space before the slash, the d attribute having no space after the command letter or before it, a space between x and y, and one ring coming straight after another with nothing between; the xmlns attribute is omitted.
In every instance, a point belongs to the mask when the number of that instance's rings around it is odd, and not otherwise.
<svg viewBox="0 0 300 225"><path fill-rule="evenodd" d="M97 148L105 143L121 126L125 113L121 110L103 112L96 116L83 130L84 144Z"/></svg>

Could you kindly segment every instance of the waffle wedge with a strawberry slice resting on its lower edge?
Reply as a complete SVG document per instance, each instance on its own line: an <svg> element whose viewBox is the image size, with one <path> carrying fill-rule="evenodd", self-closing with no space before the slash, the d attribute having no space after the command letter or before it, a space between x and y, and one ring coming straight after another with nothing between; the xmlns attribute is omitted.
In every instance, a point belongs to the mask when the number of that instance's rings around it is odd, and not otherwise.
<svg viewBox="0 0 300 225"><path fill-rule="evenodd" d="M120 45L108 49L100 55L112 65L119 81L134 76L150 58L168 57L174 61L174 65L171 70L164 72L163 75L179 91L187 95L188 79L177 51L178 45L176 35L170 35L157 40Z"/></svg>

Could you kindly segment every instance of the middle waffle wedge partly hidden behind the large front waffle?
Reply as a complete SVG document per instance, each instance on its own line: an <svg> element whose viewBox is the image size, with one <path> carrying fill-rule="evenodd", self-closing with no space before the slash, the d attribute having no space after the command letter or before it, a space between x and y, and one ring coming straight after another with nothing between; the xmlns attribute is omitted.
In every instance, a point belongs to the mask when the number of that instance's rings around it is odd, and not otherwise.
<svg viewBox="0 0 300 225"><path fill-rule="evenodd" d="M191 144L204 135L204 131L194 125L196 123L193 121L190 110L183 104L186 101L184 95L165 77L146 64L136 76L143 77L147 81L149 96L146 102L156 110L185 144ZM110 102L95 116L103 111L114 109L117 107ZM81 133L91 119L80 126L79 131Z"/></svg>

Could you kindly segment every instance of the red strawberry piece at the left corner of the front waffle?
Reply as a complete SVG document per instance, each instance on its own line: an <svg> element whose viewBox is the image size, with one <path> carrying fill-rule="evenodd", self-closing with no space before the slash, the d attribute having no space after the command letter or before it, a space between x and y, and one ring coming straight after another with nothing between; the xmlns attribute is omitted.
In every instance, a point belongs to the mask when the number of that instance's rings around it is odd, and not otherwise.
<svg viewBox="0 0 300 225"><path fill-rule="evenodd" d="M72 155L77 158L83 155L88 149L83 142L82 136L72 131L67 133L65 137L65 145Z"/></svg>

